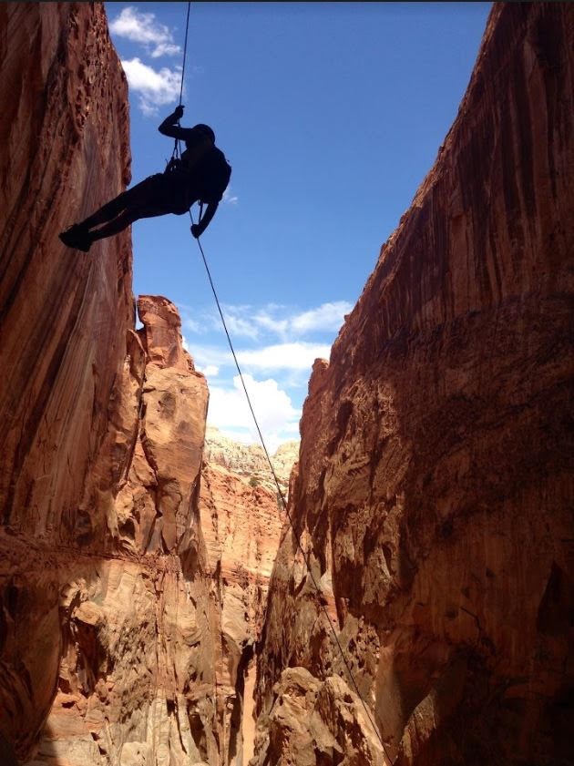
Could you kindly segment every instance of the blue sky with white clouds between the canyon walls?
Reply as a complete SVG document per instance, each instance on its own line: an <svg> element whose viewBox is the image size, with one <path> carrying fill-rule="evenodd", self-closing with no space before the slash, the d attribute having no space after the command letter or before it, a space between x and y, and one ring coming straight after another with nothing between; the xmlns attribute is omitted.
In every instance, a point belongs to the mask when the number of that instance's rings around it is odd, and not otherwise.
<svg viewBox="0 0 574 766"><path fill-rule="evenodd" d="M233 172L201 241L270 449L298 437L379 250L456 117L490 3L192 3L184 126ZM187 3L107 3L126 70L132 182L164 169ZM102 202L105 200L102 200ZM187 216L132 227L134 291L165 295L210 385L208 420L256 441Z"/></svg>

